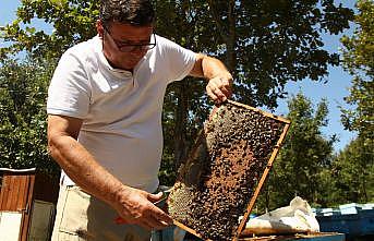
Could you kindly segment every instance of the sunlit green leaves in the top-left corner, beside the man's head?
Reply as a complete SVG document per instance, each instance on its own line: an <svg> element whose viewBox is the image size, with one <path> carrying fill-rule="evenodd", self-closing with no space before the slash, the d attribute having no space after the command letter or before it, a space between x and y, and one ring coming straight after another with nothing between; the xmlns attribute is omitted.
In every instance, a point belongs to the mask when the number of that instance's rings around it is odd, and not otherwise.
<svg viewBox="0 0 374 241"><path fill-rule="evenodd" d="M98 1L22 0L16 20L2 29L1 37L10 46L0 49L0 59L26 50L38 57L60 57L72 45L95 36ZM35 19L53 27L49 35L32 27ZM23 27L25 26L25 27Z"/></svg>

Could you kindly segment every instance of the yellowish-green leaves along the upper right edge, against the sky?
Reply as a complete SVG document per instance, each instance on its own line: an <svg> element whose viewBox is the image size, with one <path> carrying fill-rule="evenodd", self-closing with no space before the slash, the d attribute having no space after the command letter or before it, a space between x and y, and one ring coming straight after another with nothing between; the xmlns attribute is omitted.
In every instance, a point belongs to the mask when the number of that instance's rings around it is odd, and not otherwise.
<svg viewBox="0 0 374 241"><path fill-rule="evenodd" d="M353 75L346 101L353 107L342 109L342 123L357 131L367 145L374 140L374 2L358 1L358 25L352 37L343 37L343 67Z"/></svg>

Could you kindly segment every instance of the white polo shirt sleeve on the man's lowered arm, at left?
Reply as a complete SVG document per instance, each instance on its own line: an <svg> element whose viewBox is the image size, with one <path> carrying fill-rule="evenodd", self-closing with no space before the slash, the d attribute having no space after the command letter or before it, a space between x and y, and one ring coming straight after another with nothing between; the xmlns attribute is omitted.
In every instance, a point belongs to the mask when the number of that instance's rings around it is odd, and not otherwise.
<svg viewBox="0 0 374 241"><path fill-rule="evenodd" d="M62 55L48 88L47 113L84 119L91 85L82 60L69 50Z"/></svg>

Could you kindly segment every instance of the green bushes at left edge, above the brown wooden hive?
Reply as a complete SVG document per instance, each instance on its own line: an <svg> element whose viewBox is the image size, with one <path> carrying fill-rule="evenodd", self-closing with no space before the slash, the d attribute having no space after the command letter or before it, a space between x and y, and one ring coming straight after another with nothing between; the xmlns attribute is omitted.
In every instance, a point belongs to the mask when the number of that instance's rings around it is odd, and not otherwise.
<svg viewBox="0 0 374 241"><path fill-rule="evenodd" d="M57 172L47 152L47 85L53 64L7 60L0 68L0 167Z"/></svg>

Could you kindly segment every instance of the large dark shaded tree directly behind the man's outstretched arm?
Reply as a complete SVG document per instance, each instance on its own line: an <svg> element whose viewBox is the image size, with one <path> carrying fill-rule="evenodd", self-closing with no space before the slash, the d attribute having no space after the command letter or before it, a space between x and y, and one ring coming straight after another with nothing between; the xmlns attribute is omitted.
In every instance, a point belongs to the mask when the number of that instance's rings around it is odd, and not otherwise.
<svg viewBox="0 0 374 241"><path fill-rule="evenodd" d="M317 8L318 2L322 8ZM289 81L321 80L338 56L322 49L322 32L338 34L352 11L333 1L157 1L157 32L191 48L224 59L236 79L236 98L252 106L275 107ZM292 16L292 17L291 17ZM167 20L167 21L165 21ZM176 83L167 101L174 124L176 162L207 116L204 87ZM171 109L173 110L173 109Z"/></svg>

